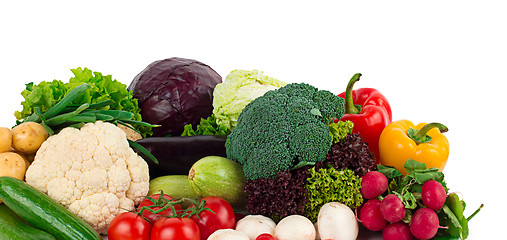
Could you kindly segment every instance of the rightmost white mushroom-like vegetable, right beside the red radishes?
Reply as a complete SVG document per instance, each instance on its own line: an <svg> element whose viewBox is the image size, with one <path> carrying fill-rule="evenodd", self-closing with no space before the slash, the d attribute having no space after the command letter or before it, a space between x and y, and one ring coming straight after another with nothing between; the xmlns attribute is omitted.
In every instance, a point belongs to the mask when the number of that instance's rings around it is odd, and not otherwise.
<svg viewBox="0 0 507 240"><path fill-rule="evenodd" d="M317 230L319 239L354 240L359 226L352 209L339 202L329 202L320 208Z"/></svg>

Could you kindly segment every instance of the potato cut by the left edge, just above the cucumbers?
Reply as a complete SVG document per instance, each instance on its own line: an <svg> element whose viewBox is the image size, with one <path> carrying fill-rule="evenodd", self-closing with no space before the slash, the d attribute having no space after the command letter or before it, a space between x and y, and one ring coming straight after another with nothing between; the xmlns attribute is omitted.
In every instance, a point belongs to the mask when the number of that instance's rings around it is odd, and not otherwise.
<svg viewBox="0 0 507 240"><path fill-rule="evenodd" d="M0 153L0 176L9 176L19 180L25 179L25 159L14 152ZM2 200L0 200L2 203Z"/></svg>

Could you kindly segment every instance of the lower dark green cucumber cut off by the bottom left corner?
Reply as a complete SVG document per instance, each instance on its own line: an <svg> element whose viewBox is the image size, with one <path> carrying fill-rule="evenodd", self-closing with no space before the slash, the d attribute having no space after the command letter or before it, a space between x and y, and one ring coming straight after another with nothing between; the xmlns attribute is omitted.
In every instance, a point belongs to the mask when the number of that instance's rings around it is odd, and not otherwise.
<svg viewBox="0 0 507 240"><path fill-rule="evenodd" d="M0 204L0 240L55 240L51 234L34 228L5 204Z"/></svg>

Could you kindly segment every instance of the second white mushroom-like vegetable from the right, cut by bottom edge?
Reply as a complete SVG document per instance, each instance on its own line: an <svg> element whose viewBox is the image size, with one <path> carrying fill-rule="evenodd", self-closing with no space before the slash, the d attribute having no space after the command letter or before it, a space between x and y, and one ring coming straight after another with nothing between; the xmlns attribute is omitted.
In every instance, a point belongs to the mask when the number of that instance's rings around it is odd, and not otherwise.
<svg viewBox="0 0 507 240"><path fill-rule="evenodd" d="M315 234L312 221L301 215L284 217L275 227L278 240L315 240Z"/></svg>

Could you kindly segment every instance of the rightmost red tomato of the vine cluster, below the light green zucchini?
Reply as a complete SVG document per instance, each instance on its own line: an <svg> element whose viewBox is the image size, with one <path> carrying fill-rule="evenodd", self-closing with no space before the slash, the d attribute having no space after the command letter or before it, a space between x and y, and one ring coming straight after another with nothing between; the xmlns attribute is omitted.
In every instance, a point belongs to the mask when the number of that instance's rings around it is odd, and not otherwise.
<svg viewBox="0 0 507 240"><path fill-rule="evenodd" d="M199 226L201 239L208 239L209 235L218 229L234 229L236 224L234 210L227 201L215 196L204 197L202 200L206 201L204 207L211 209L213 212L204 210L198 215L190 217Z"/></svg>

